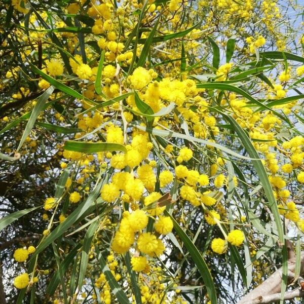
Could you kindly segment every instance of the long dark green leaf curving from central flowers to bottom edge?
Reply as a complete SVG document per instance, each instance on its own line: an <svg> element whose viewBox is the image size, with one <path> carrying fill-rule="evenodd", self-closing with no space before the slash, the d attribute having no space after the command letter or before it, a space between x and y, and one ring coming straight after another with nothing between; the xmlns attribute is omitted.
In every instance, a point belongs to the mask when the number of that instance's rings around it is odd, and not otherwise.
<svg viewBox="0 0 304 304"><path fill-rule="evenodd" d="M178 222L174 219L174 217L167 211L164 211L164 214L166 216L170 216L170 218L173 221L174 230L178 234L179 238L183 241L185 247L187 248L189 254L191 255L193 261L196 264L196 267L198 268L198 271L200 272L202 279L205 283L209 299L211 301L211 304L217 303L216 298L216 291L213 283L213 279L211 277L210 271L208 269L208 266L202 257L201 253L199 252L198 248L194 245L194 243L191 241L191 239L188 238L186 233L181 229Z"/></svg>

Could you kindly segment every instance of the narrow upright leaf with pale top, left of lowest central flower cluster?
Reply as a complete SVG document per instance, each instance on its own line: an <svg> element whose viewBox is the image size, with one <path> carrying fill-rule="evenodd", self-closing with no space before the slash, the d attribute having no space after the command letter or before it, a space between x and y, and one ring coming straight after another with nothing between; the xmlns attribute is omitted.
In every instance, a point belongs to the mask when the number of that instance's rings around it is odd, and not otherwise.
<svg viewBox="0 0 304 304"><path fill-rule="evenodd" d="M81 253L79 277L78 277L79 290L81 290L81 287L83 285L83 280L86 275L88 261L89 261L89 251L91 248L91 243L92 243L95 231L98 228L98 224L99 224L99 222L97 220L94 221L93 223L91 223L89 229L87 230L85 238L84 238L84 243L83 243L82 253Z"/></svg>

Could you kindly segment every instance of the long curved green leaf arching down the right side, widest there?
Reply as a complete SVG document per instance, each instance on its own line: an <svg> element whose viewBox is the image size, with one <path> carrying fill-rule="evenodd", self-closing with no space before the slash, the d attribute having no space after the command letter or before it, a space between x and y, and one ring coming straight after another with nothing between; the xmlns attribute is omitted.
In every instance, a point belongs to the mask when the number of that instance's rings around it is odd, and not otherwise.
<svg viewBox="0 0 304 304"><path fill-rule="evenodd" d="M276 202L276 199L273 194L273 189L272 186L269 182L269 178L267 175L267 172L259 159L259 155L257 154L257 151L255 150L250 138L247 136L245 131L240 127L240 125L235 121L235 119L229 115L226 115L222 113L223 117L229 121L231 125L234 126L235 132L238 134L244 148L246 149L247 153L249 156L252 158L252 163L253 166L257 172L257 175L260 179L260 182L263 186L265 196L267 197L268 200L268 206L272 210L277 230L278 230L278 235L279 235L279 240L284 243L284 232L283 232L283 227L282 227L282 222L281 222L281 217L280 213L278 210L278 205Z"/></svg>

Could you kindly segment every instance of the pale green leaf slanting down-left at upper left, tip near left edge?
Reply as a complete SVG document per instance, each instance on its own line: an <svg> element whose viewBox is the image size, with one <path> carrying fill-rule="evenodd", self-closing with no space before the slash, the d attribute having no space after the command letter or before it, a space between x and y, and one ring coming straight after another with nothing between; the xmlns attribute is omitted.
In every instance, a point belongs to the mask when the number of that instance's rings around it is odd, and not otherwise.
<svg viewBox="0 0 304 304"><path fill-rule="evenodd" d="M22 134L22 137L20 139L20 142L19 142L19 145L18 145L18 148L16 150L16 152L19 151L19 149L22 147L26 137L30 134L30 131L31 129L33 128L34 124L35 124L35 121L37 119L37 117L40 115L40 112L43 110L47 100L49 99L49 97L52 95L53 91L54 91L54 87L51 86L49 87L37 100L32 112L31 112L31 115L30 115L30 118L26 124L26 127L25 127L25 130Z"/></svg>

